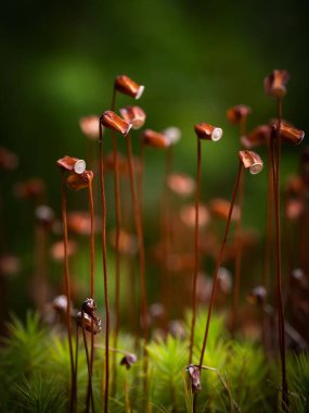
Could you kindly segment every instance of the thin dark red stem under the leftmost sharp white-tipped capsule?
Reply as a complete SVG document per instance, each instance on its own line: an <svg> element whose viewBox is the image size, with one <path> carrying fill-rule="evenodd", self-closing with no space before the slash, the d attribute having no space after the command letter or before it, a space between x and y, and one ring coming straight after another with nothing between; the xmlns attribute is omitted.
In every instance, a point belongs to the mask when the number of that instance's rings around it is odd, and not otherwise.
<svg viewBox="0 0 309 413"><path fill-rule="evenodd" d="M69 268L67 255L67 220L66 220L66 193L65 193L66 177L65 172L62 171L62 225L63 225L63 247L64 247L64 276L65 276L65 295L66 295L66 325L67 325L67 339L69 349L70 361L70 401L69 411L74 411L74 359L72 347L72 325L70 325L70 283L69 283Z"/></svg>

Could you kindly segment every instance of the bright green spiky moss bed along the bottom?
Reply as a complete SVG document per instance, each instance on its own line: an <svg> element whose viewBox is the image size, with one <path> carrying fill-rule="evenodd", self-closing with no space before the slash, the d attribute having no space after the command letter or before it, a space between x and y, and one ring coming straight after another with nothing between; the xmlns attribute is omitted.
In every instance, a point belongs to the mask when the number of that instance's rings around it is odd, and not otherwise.
<svg viewBox="0 0 309 413"><path fill-rule="evenodd" d="M195 329L194 360L201 352L204 317L198 314ZM188 315L190 321L190 315ZM188 337L190 323L184 323L184 337L167 336L151 340L147 396L151 412L191 412L192 392L188 384ZM101 336L101 337L100 337ZM75 345L75 343L74 343ZM117 354L117 388L110 397L111 412L142 412L145 400L140 383L143 360L139 343L129 335L119 335L119 348L138 355L130 368L120 365L124 354ZM102 411L102 364L104 337L98 336L93 395L95 411ZM77 411L85 411L88 372L85 351L78 355ZM141 352L142 353L142 352ZM224 328L224 315L215 315L205 365L211 368L202 375L198 406L208 412L274 412L280 411L280 371L278 362L266 361L259 342L230 339ZM293 368L292 368L293 367ZM289 354L289 397L292 412L309 411L308 354ZM1 412L65 412L70 389L68 342L62 325L43 325L36 313L28 313L26 322L13 317L9 336L2 339L0 351L0 411ZM199 410L198 410L199 411Z"/></svg>

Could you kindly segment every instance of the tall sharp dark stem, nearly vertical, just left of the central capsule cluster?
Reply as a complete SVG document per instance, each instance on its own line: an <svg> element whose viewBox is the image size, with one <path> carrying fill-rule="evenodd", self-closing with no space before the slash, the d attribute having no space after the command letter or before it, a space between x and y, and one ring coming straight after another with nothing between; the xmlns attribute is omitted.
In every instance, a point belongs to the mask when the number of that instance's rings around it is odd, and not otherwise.
<svg viewBox="0 0 309 413"><path fill-rule="evenodd" d="M102 124L99 124L99 168L100 168L100 196L102 205L102 261L103 261L103 278L104 278L104 300L105 300L105 389L104 389L104 412L108 413L108 385L110 385L110 303L108 303L108 279L107 279L107 264L106 264L106 201L104 189L104 175L103 175L103 134ZM103 383L104 380L102 380Z"/></svg>

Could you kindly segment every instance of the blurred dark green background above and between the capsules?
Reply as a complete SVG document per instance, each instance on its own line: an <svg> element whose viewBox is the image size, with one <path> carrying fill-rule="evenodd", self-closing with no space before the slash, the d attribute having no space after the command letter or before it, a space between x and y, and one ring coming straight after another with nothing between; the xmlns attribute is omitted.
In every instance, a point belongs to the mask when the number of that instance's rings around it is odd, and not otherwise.
<svg viewBox="0 0 309 413"><path fill-rule="evenodd" d="M203 146L203 200L231 196L240 145L227 109L252 107L249 128L275 116L275 102L262 86L273 68L291 73L284 117L308 129L307 1L12 0L1 9L1 146L20 157L18 170L1 173L2 216L5 252L22 254L26 262L10 284L9 306L20 312L28 302L25 277L31 272L34 209L30 202L18 202L12 187L29 177L44 179L49 204L60 216L55 161L64 154L86 157L78 120L110 109L116 75L145 85L138 104L147 114L147 127L181 128L178 171L195 174L195 123L223 128L220 142ZM133 102L121 96L118 104ZM137 150L138 134L134 139ZM300 151L284 147L283 176L297 171ZM265 158L265 149L260 153ZM146 162L146 204L155 211L164 155L152 151ZM247 183L244 221L262 227L266 173ZM113 210L113 195L107 197ZM86 209L86 195L69 196L69 206ZM60 268L53 271L62 276ZM18 293L17 286L23 286Z"/></svg>

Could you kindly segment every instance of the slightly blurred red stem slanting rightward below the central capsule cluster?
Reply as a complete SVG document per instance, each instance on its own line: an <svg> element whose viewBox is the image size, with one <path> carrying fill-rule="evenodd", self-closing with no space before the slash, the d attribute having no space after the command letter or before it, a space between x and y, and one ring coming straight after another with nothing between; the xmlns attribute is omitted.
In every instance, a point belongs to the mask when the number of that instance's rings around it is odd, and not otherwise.
<svg viewBox="0 0 309 413"><path fill-rule="evenodd" d="M142 312L142 328L144 336L144 390L147 390L147 351L146 345L149 342L149 326L147 326L147 298L146 298L146 279L145 279L145 250L144 250L144 239L143 239L143 226L140 214L140 205L137 197L136 185L134 185L134 167L132 162L132 148L130 136L126 137L127 152L128 152L128 163L130 173L130 186L133 199L134 209L134 221L136 228L139 240L140 249L140 283L141 283L141 312Z"/></svg>

